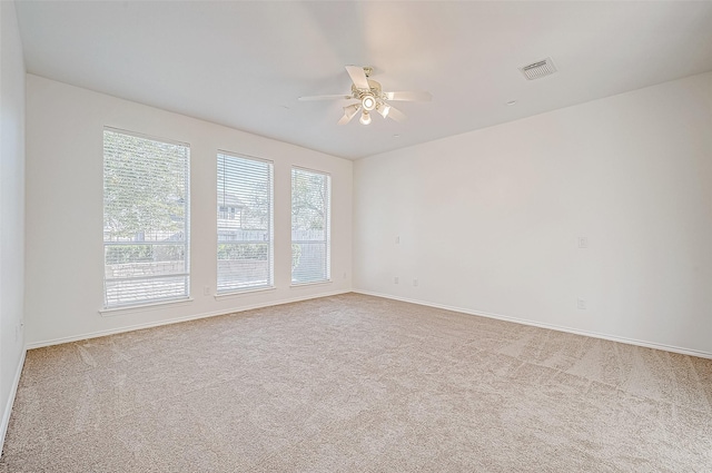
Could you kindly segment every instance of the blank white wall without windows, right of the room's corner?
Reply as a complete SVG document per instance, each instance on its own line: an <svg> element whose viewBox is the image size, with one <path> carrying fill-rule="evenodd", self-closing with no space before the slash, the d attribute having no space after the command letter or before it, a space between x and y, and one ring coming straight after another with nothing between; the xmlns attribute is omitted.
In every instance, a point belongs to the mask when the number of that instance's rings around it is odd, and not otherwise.
<svg viewBox="0 0 712 473"><path fill-rule="evenodd" d="M712 73L362 159L354 186L358 290L712 354Z"/></svg>

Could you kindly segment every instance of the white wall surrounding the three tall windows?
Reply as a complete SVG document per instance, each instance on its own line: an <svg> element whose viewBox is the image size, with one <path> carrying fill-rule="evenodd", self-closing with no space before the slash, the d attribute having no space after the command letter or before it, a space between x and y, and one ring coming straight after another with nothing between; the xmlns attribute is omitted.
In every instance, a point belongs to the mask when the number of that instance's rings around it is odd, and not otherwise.
<svg viewBox="0 0 712 473"><path fill-rule="evenodd" d="M39 346L141 324L347 292L352 273L349 160L171 114L136 102L27 77L27 341ZM190 303L102 316L102 130L105 126L190 144ZM275 164L276 289L216 300L216 152ZM332 283L289 287L290 169L332 174Z"/></svg>

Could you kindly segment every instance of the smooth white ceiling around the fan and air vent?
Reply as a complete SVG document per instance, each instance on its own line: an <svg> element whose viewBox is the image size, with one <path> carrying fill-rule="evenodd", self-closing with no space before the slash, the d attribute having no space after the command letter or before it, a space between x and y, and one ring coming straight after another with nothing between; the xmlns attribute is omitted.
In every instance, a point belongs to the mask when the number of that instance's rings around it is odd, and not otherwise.
<svg viewBox="0 0 712 473"><path fill-rule="evenodd" d="M18 1L28 72L359 158L712 70L712 2ZM551 57L558 72L518 67ZM337 126L345 65L403 124ZM516 105L506 106L511 100ZM396 137L396 135L398 137Z"/></svg>

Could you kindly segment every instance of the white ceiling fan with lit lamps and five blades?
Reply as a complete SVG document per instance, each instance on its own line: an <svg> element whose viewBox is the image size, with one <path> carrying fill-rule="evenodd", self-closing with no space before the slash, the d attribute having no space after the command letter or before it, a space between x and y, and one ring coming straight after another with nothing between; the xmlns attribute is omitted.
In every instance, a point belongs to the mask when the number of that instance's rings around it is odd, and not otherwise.
<svg viewBox="0 0 712 473"><path fill-rule="evenodd" d="M370 67L346 66L346 72L352 78L350 95L310 96L299 97L299 100L357 100L344 107L344 116L338 120L338 125L346 125L352 121L360 110L360 121L363 125L370 124L370 112L377 111L383 118L392 118L396 121L406 119L405 114L388 104L388 100L402 101L429 101L433 99L431 92L384 92L380 83L369 79L374 69Z"/></svg>

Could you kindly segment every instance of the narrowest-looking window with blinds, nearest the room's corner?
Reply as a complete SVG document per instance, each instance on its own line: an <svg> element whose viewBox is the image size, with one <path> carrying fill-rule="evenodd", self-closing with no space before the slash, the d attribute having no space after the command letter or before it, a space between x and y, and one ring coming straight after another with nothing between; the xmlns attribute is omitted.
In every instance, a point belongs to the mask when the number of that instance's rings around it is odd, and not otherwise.
<svg viewBox="0 0 712 473"><path fill-rule="evenodd" d="M330 195L327 174L291 169L291 282L330 278Z"/></svg>

